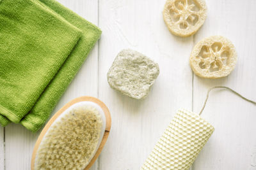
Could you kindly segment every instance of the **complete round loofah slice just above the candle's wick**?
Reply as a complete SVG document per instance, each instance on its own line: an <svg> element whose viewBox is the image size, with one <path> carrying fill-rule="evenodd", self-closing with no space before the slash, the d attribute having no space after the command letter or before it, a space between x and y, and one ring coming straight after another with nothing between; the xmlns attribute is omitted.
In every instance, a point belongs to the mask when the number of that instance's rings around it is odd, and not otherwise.
<svg viewBox="0 0 256 170"><path fill-rule="evenodd" d="M225 77L235 68L237 53L230 40L223 36L210 36L199 41L190 56L190 66L203 78Z"/></svg>

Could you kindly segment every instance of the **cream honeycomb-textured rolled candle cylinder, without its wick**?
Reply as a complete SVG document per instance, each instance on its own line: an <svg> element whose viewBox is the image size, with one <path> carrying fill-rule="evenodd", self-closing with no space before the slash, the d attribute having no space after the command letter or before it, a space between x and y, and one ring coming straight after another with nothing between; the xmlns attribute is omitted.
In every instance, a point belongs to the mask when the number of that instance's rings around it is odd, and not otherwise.
<svg viewBox="0 0 256 170"><path fill-rule="evenodd" d="M189 169L213 131L199 115L177 111L141 169Z"/></svg>

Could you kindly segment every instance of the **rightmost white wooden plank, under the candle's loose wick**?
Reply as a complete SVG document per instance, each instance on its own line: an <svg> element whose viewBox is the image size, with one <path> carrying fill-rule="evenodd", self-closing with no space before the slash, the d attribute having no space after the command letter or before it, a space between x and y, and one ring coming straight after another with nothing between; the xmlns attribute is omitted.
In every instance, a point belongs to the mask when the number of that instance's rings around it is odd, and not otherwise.
<svg viewBox="0 0 256 170"><path fill-rule="evenodd" d="M256 1L207 1L207 20L195 42L222 35L236 46L236 69L218 80L194 78L194 110L200 111L207 89L225 85L256 101ZM215 90L202 117L216 128L194 169L256 169L256 106L228 91Z"/></svg>

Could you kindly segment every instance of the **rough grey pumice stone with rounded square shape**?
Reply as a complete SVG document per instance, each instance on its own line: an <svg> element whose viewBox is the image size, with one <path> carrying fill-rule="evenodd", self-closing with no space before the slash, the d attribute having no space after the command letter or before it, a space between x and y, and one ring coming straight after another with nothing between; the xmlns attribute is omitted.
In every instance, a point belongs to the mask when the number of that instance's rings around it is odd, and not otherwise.
<svg viewBox="0 0 256 170"><path fill-rule="evenodd" d="M159 66L140 52L122 50L108 71L110 87L134 99L148 95L159 74Z"/></svg>

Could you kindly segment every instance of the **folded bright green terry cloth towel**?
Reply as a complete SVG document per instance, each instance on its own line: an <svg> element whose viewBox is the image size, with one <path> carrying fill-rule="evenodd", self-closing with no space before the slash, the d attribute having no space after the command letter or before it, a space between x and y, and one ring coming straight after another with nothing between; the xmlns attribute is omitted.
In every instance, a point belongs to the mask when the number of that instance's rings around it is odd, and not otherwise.
<svg viewBox="0 0 256 170"><path fill-rule="evenodd" d="M100 34L54 0L0 0L0 124L38 131Z"/></svg>

